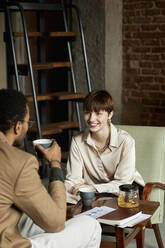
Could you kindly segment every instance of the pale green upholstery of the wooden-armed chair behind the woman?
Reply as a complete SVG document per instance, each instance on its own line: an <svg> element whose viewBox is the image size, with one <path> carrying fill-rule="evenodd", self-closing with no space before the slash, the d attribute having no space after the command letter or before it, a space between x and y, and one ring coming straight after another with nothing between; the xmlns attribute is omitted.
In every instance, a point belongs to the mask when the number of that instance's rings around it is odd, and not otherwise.
<svg viewBox="0 0 165 248"><path fill-rule="evenodd" d="M127 131L135 139L136 168L145 183L165 183L165 127L115 126ZM160 202L160 207L152 217L152 223L162 223L164 191L155 188L151 200Z"/></svg>

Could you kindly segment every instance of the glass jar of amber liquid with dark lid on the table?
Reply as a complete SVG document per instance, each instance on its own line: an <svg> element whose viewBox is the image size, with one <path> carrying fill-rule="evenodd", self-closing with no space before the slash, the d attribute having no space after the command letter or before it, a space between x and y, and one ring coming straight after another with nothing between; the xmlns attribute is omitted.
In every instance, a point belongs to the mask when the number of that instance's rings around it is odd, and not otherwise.
<svg viewBox="0 0 165 248"><path fill-rule="evenodd" d="M119 186L118 206L134 208L139 206L139 189L137 185L123 184Z"/></svg>

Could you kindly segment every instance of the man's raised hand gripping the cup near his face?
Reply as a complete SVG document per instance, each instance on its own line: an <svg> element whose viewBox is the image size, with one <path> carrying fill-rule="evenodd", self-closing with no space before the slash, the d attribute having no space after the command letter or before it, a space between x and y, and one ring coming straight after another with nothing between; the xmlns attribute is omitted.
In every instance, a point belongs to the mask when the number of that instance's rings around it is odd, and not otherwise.
<svg viewBox="0 0 165 248"><path fill-rule="evenodd" d="M35 147L42 152L44 158L50 163L51 168L61 168L61 147L55 140L53 140L52 145L49 148L45 149L39 144L35 145Z"/></svg>

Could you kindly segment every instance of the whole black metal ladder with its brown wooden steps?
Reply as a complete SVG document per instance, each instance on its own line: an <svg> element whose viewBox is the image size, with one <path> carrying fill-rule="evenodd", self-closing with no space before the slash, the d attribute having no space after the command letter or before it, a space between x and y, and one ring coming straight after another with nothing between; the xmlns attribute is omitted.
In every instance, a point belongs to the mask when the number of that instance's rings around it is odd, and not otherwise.
<svg viewBox="0 0 165 248"><path fill-rule="evenodd" d="M33 103L36 126L30 129L31 134L35 135L38 138L42 138L45 136L56 135L63 133L64 130L77 129L79 131L82 130L82 121L80 116L80 102L85 97L85 95L91 91L91 83L88 69L88 60L84 39L84 31L82 27L82 21L79 9L75 5L66 5L63 0L60 0L60 3L55 4L47 4L41 2L24 2L24 1L5 1L3 8L5 11L5 19L6 19L6 32L5 32L5 41L7 47L11 51L10 62L8 63L8 72L15 76L16 88L19 91L23 91L21 85L20 76L25 76L29 78L31 83L31 94L26 94L27 101L29 103ZM42 1L43 2L43 1ZM84 67L86 72L86 84L87 84L87 92L80 93L77 91L77 82L75 79L74 72L74 62L72 58L72 50L71 50L71 42L75 41L76 33L68 30L68 18L67 11L75 11L78 24L79 24L79 32L81 38L81 46L82 46L82 56L84 59ZM35 31L28 30L27 28L27 20L26 20L26 12L32 11L36 13L37 20L39 20L38 29ZM45 29L45 16L44 13L48 12L60 12L62 14L64 30L57 31L47 31ZM14 30L12 23L12 13L18 12L21 16L22 28L23 32L18 32ZM46 31L45 31L46 30ZM24 39L27 64L20 64L17 62L17 51L15 47L15 40L19 38ZM67 49L67 59L66 61L46 61L46 46L45 42L47 39L60 39L65 40L65 49ZM40 61L33 61L33 54L31 53L31 43L36 40L39 47L39 57ZM8 61L9 61L8 60ZM52 71L62 70L61 73L65 71L70 71L71 75L71 90L68 91L68 87L64 87L64 90L50 90L47 92L47 74ZM59 72L58 72L59 73ZM40 82L36 82L35 75L37 74L38 80ZM38 86L39 85L39 86ZM14 88L15 86L9 81L9 87ZM60 87L59 87L60 88ZM42 103L52 102L54 104L55 101L59 102L72 102L75 105L77 120L60 120L60 121L48 121L46 119L47 109ZM59 106L59 105L58 105ZM58 111L61 111L58 109ZM57 111L57 112L58 112ZM57 113L58 115L58 113ZM68 115L68 114L67 114ZM64 116L65 117L65 116ZM53 136L54 137L54 136Z"/></svg>

